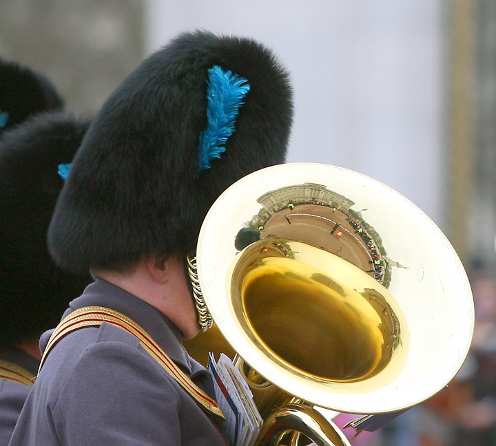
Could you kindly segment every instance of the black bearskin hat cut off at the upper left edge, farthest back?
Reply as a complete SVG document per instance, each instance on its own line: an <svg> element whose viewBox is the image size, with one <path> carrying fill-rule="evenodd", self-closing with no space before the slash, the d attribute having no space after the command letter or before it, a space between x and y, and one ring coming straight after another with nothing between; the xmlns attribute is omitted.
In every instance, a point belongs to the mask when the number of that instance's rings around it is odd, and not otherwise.
<svg viewBox="0 0 496 446"><path fill-rule="evenodd" d="M0 59L0 134L42 111L63 107L63 99L42 74Z"/></svg>

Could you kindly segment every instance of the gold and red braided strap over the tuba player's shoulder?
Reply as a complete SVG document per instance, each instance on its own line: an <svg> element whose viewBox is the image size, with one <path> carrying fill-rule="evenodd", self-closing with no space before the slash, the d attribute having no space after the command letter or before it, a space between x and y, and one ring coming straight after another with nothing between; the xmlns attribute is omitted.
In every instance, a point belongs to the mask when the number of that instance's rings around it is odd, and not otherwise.
<svg viewBox="0 0 496 446"><path fill-rule="evenodd" d="M150 337L150 335L143 330L136 322L129 317L121 314L120 312L99 306L89 306L79 308L72 312L68 317L65 317L55 328L48 344L43 352L39 370L43 367L45 359L54 348L55 344L59 342L70 332L79 330L79 328L100 326L102 322L112 323L127 332L130 332L140 341L141 346L152 355L152 357L169 373L182 387L188 392L201 406L206 410L224 418L222 410L218 407L216 401L211 399L203 390L200 389L190 378L180 370L176 363L169 358L160 346Z"/></svg>

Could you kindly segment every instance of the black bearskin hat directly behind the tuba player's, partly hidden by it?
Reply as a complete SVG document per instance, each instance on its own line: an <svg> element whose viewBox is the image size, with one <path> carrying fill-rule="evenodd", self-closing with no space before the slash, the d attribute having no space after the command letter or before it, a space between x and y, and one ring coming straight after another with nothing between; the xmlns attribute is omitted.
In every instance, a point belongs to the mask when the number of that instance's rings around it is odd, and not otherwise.
<svg viewBox="0 0 496 446"><path fill-rule="evenodd" d="M63 186L59 164L71 162L88 125L39 114L0 140L0 345L55 326L90 282L56 267L46 242Z"/></svg>

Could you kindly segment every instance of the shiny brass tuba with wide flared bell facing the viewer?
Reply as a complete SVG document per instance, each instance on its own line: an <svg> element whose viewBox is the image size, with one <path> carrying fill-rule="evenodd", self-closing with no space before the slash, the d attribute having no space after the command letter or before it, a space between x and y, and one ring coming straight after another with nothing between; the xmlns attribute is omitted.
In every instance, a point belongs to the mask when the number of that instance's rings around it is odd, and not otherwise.
<svg viewBox="0 0 496 446"><path fill-rule="evenodd" d="M295 163L242 178L207 214L196 263L216 339L205 348L227 341L267 418L291 398L404 410L441 390L468 353L473 297L451 244L409 200L354 171ZM201 342L187 344L192 356ZM311 437L307 427L293 430ZM347 444L336 436L313 440Z"/></svg>

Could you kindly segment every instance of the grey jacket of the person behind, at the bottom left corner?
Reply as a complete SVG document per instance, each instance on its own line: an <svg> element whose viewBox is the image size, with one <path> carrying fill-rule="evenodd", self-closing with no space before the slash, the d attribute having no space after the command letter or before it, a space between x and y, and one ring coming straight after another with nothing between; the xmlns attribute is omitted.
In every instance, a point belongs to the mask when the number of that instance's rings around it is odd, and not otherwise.
<svg viewBox="0 0 496 446"><path fill-rule="evenodd" d="M39 361L18 348L0 348L0 359L20 365L33 376L38 372ZM30 390L30 385L0 379L0 446L8 445Z"/></svg>

